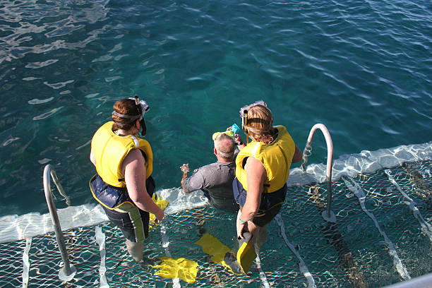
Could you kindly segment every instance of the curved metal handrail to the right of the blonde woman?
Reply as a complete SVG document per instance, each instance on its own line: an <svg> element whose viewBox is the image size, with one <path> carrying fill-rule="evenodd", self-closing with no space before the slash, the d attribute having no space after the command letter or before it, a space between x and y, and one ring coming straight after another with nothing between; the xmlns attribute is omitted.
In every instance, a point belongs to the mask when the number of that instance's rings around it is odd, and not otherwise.
<svg viewBox="0 0 432 288"><path fill-rule="evenodd" d="M328 128L324 124L315 124L309 132L308 141L303 150L303 163L301 163L301 169L306 173L306 163L308 162L308 157L312 154L312 140L317 129L323 132L325 137L325 142L327 143L327 169L325 171L325 181L327 181L328 192L327 192L327 209L323 211L323 218L328 222L336 222L335 213L332 212L332 165L333 165L333 142L332 137Z"/></svg>

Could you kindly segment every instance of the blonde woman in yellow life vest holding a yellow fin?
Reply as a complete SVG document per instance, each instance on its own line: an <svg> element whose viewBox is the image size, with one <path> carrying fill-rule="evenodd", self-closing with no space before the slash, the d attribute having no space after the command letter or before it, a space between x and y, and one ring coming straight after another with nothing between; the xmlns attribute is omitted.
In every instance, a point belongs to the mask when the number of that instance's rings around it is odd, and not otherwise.
<svg viewBox="0 0 432 288"><path fill-rule="evenodd" d="M250 232L259 250L267 238L268 223L284 203L289 167L302 157L287 129L272 126L273 116L265 102L242 107L240 116L246 137L252 142L239 145L236 157L233 191L240 205L236 230L239 239L244 239L244 232Z"/></svg>

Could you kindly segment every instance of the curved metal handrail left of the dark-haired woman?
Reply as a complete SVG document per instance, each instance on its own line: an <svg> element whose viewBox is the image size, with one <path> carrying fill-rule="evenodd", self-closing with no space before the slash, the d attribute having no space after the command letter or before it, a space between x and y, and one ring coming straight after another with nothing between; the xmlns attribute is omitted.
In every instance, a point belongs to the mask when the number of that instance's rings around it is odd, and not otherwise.
<svg viewBox="0 0 432 288"><path fill-rule="evenodd" d="M54 205L54 200L52 199L51 183L49 181L49 176L51 175L54 184L56 184L57 189L61 196L66 198L66 204L71 205L71 199L64 193L63 186L61 186L59 179L57 178L56 172L52 169L50 164L47 164L44 168L44 193L47 199L47 205L49 209L49 215L51 215L52 224L54 225L54 232L56 233L57 244L59 245L59 251L61 253L61 259L63 260L64 267L59 271L59 278L63 281L70 281L76 274L76 268L69 263L68 252L66 251L66 245L64 244L63 233L61 232L59 215L57 215L56 205Z"/></svg>

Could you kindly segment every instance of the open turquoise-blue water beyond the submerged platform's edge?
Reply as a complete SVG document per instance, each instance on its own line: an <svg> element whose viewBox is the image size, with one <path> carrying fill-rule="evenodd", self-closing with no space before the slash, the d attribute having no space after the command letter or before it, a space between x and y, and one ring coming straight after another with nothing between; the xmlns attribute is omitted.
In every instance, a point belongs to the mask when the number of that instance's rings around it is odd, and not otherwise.
<svg viewBox="0 0 432 288"><path fill-rule="evenodd" d="M260 99L301 149L325 124L335 158L432 140L430 1L0 1L0 47L0 215L47 212L48 163L92 203L90 139L133 95L158 188Z"/></svg>

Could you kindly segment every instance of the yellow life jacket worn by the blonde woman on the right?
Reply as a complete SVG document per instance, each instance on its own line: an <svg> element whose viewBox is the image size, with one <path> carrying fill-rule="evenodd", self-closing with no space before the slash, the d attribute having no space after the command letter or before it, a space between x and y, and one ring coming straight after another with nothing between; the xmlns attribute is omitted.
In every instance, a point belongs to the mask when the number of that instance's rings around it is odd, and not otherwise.
<svg viewBox="0 0 432 288"><path fill-rule="evenodd" d="M296 149L294 140L284 126L275 126L279 134L270 144L252 141L245 148L241 149L236 158L236 178L243 188L248 191L248 180L243 161L246 157L254 157L263 164L267 172L267 179L264 181L263 193L272 193L287 183L289 167Z"/></svg>

